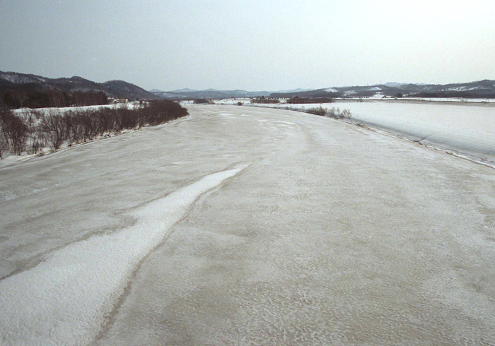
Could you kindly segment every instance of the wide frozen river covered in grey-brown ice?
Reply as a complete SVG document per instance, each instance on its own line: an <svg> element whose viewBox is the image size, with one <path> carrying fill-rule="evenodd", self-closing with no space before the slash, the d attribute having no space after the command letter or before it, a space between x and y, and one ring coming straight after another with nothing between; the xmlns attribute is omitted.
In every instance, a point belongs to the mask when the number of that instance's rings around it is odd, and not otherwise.
<svg viewBox="0 0 495 346"><path fill-rule="evenodd" d="M188 107L0 169L0 345L494 345L494 169Z"/></svg>

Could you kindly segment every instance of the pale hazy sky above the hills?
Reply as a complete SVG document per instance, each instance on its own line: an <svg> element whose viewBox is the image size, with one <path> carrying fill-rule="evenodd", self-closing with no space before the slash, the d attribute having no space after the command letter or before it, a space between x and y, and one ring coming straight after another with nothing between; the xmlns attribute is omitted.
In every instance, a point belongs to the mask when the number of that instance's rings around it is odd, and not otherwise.
<svg viewBox="0 0 495 346"><path fill-rule="evenodd" d="M0 0L0 71L146 90L495 79L495 1Z"/></svg>

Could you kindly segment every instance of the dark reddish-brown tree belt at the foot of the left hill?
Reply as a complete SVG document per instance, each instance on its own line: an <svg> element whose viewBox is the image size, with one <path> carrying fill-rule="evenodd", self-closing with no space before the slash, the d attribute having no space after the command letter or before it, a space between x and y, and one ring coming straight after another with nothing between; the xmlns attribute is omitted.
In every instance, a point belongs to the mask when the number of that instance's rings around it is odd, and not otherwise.
<svg viewBox="0 0 495 346"><path fill-rule="evenodd" d="M39 90L36 85L0 90L0 107L45 108L93 105L108 105L107 95L103 91L67 93L60 90Z"/></svg>

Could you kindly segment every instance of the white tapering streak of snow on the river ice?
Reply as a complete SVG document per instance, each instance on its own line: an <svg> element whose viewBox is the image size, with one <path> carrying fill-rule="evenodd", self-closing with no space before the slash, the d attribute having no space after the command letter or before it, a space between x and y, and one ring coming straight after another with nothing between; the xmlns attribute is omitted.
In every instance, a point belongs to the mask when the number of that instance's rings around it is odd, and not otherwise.
<svg viewBox="0 0 495 346"><path fill-rule="evenodd" d="M0 281L0 340L4 345L83 345L127 287L136 266L206 191L248 165L209 174L144 205L135 225L78 241L47 261Z"/></svg>

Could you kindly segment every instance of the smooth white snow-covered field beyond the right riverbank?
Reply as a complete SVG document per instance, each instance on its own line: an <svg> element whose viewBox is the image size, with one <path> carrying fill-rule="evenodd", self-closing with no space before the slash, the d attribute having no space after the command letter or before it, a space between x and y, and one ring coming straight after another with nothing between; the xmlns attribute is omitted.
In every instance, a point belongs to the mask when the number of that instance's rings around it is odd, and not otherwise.
<svg viewBox="0 0 495 346"><path fill-rule="evenodd" d="M304 110L320 107L320 104L263 106ZM355 121L495 164L495 107L492 105L339 100L321 106L349 109Z"/></svg>

